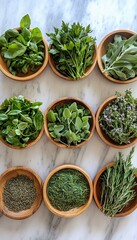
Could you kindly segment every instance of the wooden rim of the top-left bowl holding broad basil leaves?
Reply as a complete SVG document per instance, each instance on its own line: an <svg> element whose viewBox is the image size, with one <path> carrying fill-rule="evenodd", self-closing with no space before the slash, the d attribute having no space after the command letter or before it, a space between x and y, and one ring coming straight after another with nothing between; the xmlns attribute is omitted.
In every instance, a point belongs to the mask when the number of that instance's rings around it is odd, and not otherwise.
<svg viewBox="0 0 137 240"><path fill-rule="evenodd" d="M20 30L20 27L13 28L13 29ZM30 29L30 30L31 30L31 29ZM47 44L47 41L46 41L43 37L42 37L42 41L43 41L43 44L44 44L44 47L45 47L45 50L44 50L45 57L44 57L44 61L43 61L42 66L38 69L37 72L34 72L33 74L28 75L28 76L25 76L25 74L24 74L23 77L21 77L21 76L14 76L13 74L11 74L7 69L5 69L5 68L1 65L1 62L4 62L1 54L0 54L0 70L1 70L7 77L9 77L10 79L16 80L16 81L20 81L20 82L33 80L34 78L36 78L37 76L39 76L39 75L44 71L44 69L46 68L47 63L48 63L48 56L49 56L49 54L48 54L48 44Z"/></svg>

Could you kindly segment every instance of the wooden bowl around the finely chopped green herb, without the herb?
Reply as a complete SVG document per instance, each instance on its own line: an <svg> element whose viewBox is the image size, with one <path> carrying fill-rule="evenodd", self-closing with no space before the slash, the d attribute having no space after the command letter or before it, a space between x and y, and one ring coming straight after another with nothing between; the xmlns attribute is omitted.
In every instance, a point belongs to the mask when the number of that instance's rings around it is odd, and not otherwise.
<svg viewBox="0 0 137 240"><path fill-rule="evenodd" d="M48 182L50 180L50 178L55 174L57 173L58 171L62 170L62 169L74 169L74 170L77 170L79 171L80 173L82 173L88 184L89 184L89 188L90 188L90 194L89 194L89 199L87 201L87 203L79 208L74 208L74 209L71 209L69 211L60 211L56 208L54 208L50 201L49 201L49 198L47 196L47 185L48 185ZM75 217L75 216L78 216L80 215L82 212L84 212L90 205L91 201L92 201L92 197L93 197L93 184L92 184L92 180L90 178L90 176L80 167L76 166L76 165L71 165L71 164L66 164L66 165L61 165L59 167L56 167L55 169L53 169L47 176L47 178L45 179L45 182L44 182L44 185L43 185L43 198L44 198L44 202L47 206L47 208L52 212L54 213L55 215L58 215L59 217L64 217L64 218L71 218L71 217Z"/></svg>

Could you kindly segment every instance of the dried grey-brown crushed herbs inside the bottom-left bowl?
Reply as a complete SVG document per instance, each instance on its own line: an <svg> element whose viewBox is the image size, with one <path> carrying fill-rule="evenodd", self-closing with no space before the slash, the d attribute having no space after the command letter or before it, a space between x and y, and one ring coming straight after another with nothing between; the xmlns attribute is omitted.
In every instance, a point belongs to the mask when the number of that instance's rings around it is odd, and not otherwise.
<svg viewBox="0 0 137 240"><path fill-rule="evenodd" d="M3 200L10 211L20 212L30 209L36 197L37 191L34 182L26 175L13 177L5 184Z"/></svg>

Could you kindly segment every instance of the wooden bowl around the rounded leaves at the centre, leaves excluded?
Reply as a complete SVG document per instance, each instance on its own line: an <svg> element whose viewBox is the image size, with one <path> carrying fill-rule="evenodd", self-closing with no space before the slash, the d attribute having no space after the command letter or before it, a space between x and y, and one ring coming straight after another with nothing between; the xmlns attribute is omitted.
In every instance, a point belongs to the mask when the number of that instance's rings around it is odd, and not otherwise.
<svg viewBox="0 0 137 240"><path fill-rule="evenodd" d="M64 105L64 103L73 103L73 102L76 102L82 106L84 106L85 108L87 108L89 111L90 111L90 115L92 116L92 124L90 126L90 135L89 137L77 144L77 145L70 145L70 146L66 146L62 143L59 143L59 142L55 142L54 139L50 136L49 134L49 130L48 130L48 119L47 119L47 113L49 110L51 109L54 109L56 106L60 105ZM93 133L94 133L94 130L95 130L95 116L94 116L94 112L93 110L89 107L89 105L87 103L85 103L84 101L82 101L81 99L79 98L73 98L73 97L64 97L64 98L60 98L60 99L57 99L56 101L54 101L53 103L51 103L51 105L47 108L45 114L44 114L44 129L45 129L45 133L48 137L48 139L54 143L57 147L62 147L62 148L79 148L79 147L82 147L86 142L88 142L90 140L90 138L93 136Z"/></svg>

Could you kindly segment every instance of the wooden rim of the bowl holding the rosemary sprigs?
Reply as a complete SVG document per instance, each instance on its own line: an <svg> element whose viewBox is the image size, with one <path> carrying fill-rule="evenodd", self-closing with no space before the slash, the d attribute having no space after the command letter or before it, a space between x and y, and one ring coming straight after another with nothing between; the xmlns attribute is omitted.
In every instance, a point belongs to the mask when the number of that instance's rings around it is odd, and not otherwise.
<svg viewBox="0 0 137 240"><path fill-rule="evenodd" d="M97 207L101 210L101 204L100 204L100 201L98 200L98 197L97 197L97 183L98 183L98 180L100 179L102 173L104 171L107 170L108 167L112 167L114 166L114 161L112 162L109 162L107 163L105 166L103 166L96 174L94 180L93 180L93 195L94 195L94 201L97 205ZM135 174L136 178L137 178L137 174ZM124 217L124 216L127 216L129 215L130 213L132 213L135 209L137 208L137 202L135 203L134 207L132 207L131 209L127 210L126 212L120 212L120 213L117 213L114 217Z"/></svg>

